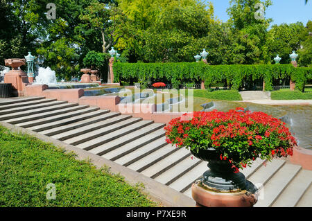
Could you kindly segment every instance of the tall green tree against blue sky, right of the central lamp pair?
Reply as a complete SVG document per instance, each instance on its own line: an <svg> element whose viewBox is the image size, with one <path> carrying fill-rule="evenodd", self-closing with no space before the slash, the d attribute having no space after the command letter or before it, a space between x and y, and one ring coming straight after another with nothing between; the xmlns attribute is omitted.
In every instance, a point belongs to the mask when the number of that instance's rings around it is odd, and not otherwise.
<svg viewBox="0 0 312 221"><path fill-rule="evenodd" d="M267 58L266 33L272 19L264 17L272 1L231 0L227 8L229 26L236 39L233 46L239 64L261 64ZM263 7L262 7L263 6ZM260 13L260 15L258 15Z"/></svg>

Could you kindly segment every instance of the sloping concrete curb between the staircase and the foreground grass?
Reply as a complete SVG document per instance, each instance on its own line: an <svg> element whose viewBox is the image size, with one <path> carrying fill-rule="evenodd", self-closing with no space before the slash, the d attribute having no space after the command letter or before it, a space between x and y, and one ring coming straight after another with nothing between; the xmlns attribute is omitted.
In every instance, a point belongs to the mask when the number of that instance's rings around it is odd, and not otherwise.
<svg viewBox="0 0 312 221"><path fill-rule="evenodd" d="M141 173L138 173L134 170L130 170L129 168L126 168L125 166L121 166L118 163L114 163L113 161L100 157L96 154L92 154L91 152L87 152L86 150L77 148L73 145L63 143L62 141L58 141L49 136L38 134L31 130L26 130L23 127L18 127L15 125L11 125L9 123L4 123L4 122L0 122L0 125L8 128L12 132L21 132L23 134L34 136L37 139L40 139L44 142L53 143L53 145L66 150L66 152L74 152L75 154L77 154L76 159L79 159L79 160L89 159L92 161L94 166L96 166L96 168L108 166L110 167L111 173L120 174L121 176L125 177L125 180L132 185L135 185L137 183L143 183L145 187L143 192L148 194L151 200L160 202L162 206L170 206L170 207L196 206L196 202L190 197L187 197L187 195L184 195L183 193L175 191L173 188L170 188L164 184L161 184L155 181L154 179L151 179L150 177L141 175Z"/></svg>

